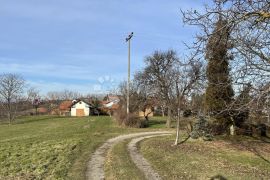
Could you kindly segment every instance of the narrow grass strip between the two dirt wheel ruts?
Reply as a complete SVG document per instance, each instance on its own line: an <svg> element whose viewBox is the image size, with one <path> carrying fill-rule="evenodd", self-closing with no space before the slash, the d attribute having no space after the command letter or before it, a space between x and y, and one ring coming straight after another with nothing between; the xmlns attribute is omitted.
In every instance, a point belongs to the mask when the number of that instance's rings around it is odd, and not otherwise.
<svg viewBox="0 0 270 180"><path fill-rule="evenodd" d="M144 180L145 177L132 162L127 151L129 140L116 144L108 153L105 163L105 177L109 180Z"/></svg>

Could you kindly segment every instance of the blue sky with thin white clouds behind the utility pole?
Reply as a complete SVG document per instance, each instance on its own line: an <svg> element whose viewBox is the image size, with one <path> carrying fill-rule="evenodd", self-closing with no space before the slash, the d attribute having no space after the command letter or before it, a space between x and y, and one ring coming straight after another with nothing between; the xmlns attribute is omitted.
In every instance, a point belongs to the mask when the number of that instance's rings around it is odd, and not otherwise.
<svg viewBox="0 0 270 180"><path fill-rule="evenodd" d="M132 74L155 50L191 42L180 9L204 0L0 0L0 73L21 74L43 94L99 93L127 76L126 36L133 31Z"/></svg>

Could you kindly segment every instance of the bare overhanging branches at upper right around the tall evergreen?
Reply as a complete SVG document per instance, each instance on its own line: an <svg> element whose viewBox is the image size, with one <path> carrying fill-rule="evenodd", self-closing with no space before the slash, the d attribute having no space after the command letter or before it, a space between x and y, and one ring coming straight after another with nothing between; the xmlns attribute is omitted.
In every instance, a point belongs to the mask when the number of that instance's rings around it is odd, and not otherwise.
<svg viewBox="0 0 270 180"><path fill-rule="evenodd" d="M220 31L229 29L228 56L235 97L224 110L231 117L238 116L247 107L256 112L258 99L269 93L265 85L270 79L270 3L269 0L213 0L204 10L183 11L183 20L188 25L200 28L193 45L189 46L204 56L209 38L216 33L219 18L227 21ZM239 105L238 96L247 84L252 85L249 102ZM266 106L266 105L264 105ZM258 106L257 106L258 108ZM220 112L220 113L223 113ZM232 121L233 118L232 118Z"/></svg>

